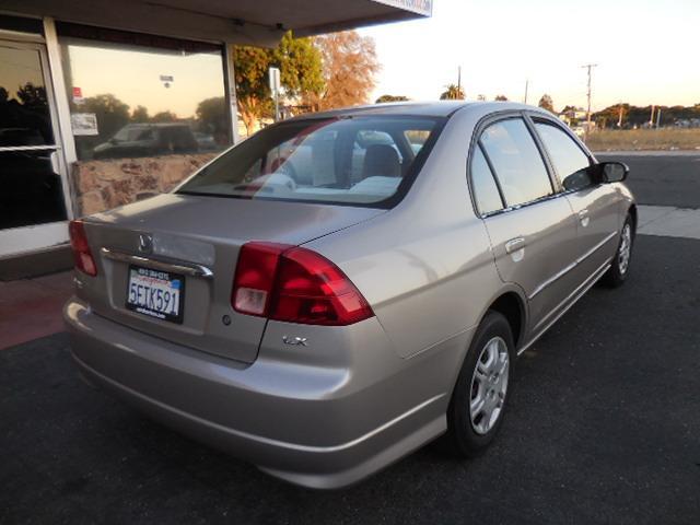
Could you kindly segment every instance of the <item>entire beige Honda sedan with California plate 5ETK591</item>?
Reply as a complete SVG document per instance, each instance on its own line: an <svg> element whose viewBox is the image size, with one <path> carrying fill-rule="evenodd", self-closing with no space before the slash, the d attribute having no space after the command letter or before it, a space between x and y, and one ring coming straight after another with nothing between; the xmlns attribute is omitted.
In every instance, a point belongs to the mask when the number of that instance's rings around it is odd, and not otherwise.
<svg viewBox="0 0 700 525"><path fill-rule="evenodd" d="M515 359L628 277L620 163L548 112L378 105L254 135L171 194L73 221L74 360L288 481L343 487L494 439Z"/></svg>

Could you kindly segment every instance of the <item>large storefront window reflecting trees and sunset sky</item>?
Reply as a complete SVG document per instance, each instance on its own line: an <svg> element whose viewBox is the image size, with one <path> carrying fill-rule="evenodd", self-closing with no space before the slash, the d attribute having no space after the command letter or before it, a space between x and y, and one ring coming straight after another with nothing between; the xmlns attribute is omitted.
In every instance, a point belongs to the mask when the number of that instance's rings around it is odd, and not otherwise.
<svg viewBox="0 0 700 525"><path fill-rule="evenodd" d="M221 47L58 28L78 159L207 153L231 144Z"/></svg>

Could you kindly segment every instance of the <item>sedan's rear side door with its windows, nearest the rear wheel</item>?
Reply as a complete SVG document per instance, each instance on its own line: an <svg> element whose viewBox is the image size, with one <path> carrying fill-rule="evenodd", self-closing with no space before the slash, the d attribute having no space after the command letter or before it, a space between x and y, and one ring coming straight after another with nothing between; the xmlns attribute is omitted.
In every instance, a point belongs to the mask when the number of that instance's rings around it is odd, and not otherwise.
<svg viewBox="0 0 700 525"><path fill-rule="evenodd" d="M576 222L522 116L488 124L470 156L471 192L501 279L520 285L538 330L575 289Z"/></svg>

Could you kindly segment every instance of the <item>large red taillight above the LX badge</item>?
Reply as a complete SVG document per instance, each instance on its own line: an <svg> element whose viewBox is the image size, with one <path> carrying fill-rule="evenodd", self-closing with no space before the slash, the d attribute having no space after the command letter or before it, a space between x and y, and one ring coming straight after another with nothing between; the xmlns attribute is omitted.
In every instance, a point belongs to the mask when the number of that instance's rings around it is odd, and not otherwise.
<svg viewBox="0 0 700 525"><path fill-rule="evenodd" d="M307 325L351 325L374 315L331 261L311 249L272 243L241 248L231 302L243 314Z"/></svg>

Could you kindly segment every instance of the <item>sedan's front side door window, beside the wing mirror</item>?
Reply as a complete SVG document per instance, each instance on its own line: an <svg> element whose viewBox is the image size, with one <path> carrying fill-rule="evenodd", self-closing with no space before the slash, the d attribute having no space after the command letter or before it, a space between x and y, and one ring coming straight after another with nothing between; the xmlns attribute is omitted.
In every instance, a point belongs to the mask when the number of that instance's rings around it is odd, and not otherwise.
<svg viewBox="0 0 700 525"><path fill-rule="evenodd" d="M591 161L573 139L551 124L535 122L535 128L564 189L575 191L591 186Z"/></svg>

